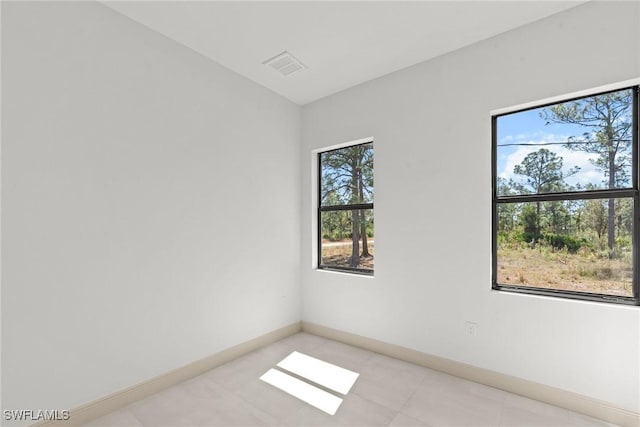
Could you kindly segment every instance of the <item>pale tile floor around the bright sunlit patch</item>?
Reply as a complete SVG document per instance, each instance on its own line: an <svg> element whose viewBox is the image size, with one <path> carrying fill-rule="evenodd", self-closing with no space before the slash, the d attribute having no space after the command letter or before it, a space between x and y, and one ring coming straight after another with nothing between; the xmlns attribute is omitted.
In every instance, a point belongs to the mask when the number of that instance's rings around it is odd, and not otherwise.
<svg viewBox="0 0 640 427"><path fill-rule="evenodd" d="M259 380L292 351L360 373L334 416ZM612 426L431 369L299 333L84 427Z"/></svg>

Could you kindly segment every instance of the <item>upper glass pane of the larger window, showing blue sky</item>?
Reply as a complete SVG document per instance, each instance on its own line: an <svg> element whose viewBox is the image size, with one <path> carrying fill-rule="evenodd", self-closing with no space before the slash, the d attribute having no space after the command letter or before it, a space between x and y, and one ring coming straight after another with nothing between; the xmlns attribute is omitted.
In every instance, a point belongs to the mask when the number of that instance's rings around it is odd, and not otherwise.
<svg viewBox="0 0 640 427"><path fill-rule="evenodd" d="M499 196L632 187L633 91L496 119Z"/></svg>

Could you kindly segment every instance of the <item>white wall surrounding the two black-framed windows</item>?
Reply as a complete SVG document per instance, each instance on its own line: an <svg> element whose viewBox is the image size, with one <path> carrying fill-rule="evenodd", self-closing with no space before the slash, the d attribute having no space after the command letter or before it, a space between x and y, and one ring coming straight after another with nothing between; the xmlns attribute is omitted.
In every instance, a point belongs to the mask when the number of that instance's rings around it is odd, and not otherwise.
<svg viewBox="0 0 640 427"><path fill-rule="evenodd" d="M639 410L638 307L490 289L490 111L639 76L640 4L590 3L305 106L303 319ZM313 270L312 150L368 136L375 278Z"/></svg>

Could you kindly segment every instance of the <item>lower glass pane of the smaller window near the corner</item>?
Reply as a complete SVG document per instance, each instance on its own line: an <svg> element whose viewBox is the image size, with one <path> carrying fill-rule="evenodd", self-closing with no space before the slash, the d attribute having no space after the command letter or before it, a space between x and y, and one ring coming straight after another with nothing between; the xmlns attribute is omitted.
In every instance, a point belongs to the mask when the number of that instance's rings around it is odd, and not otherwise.
<svg viewBox="0 0 640 427"><path fill-rule="evenodd" d="M373 271L373 209L320 212L322 267Z"/></svg>

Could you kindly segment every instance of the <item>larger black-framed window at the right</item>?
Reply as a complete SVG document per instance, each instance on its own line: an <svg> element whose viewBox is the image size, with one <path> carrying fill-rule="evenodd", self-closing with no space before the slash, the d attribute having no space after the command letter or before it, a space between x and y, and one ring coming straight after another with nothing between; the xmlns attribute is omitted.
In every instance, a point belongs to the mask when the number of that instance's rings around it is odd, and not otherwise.
<svg viewBox="0 0 640 427"><path fill-rule="evenodd" d="M494 289L639 305L638 87L492 117Z"/></svg>

